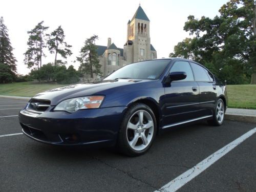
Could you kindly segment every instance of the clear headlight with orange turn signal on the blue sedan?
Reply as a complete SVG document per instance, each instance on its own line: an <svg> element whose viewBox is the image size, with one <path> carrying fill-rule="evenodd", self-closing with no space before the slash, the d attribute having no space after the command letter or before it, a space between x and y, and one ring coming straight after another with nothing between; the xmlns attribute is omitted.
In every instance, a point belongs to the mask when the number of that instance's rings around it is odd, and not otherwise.
<svg viewBox="0 0 256 192"><path fill-rule="evenodd" d="M69 113L76 112L82 109L99 108L104 96L87 96L67 99L54 108L54 111L67 111Z"/></svg>

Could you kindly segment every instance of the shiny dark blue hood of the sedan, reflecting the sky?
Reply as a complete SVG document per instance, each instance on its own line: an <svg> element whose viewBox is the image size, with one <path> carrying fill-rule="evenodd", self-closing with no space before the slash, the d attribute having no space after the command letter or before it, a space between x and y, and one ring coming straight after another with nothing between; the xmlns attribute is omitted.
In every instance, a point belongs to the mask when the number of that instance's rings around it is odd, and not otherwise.
<svg viewBox="0 0 256 192"><path fill-rule="evenodd" d="M56 105L62 100L100 94L100 92L114 87L125 86L127 84L139 83L150 80L104 80L94 83L73 84L70 86L60 87L36 94L33 99L50 100L51 105Z"/></svg>

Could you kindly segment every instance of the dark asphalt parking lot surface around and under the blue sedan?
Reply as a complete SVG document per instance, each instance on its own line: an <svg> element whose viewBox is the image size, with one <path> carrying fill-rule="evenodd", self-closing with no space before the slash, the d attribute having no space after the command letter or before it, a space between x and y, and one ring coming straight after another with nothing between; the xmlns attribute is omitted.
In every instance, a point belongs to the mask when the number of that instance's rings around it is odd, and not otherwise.
<svg viewBox="0 0 256 192"><path fill-rule="evenodd" d="M147 154L131 158L110 148L63 148L27 138L17 117L25 104L0 98L0 191L164 191L165 184L256 127L202 121L157 136ZM256 134L179 191L255 191L255 146Z"/></svg>

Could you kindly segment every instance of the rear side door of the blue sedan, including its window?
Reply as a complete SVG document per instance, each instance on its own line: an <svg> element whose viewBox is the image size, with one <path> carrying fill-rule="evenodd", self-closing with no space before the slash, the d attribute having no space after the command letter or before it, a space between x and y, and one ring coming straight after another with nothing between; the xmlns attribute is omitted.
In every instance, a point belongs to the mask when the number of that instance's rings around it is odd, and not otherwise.
<svg viewBox="0 0 256 192"><path fill-rule="evenodd" d="M214 109L217 100L217 86L214 77L208 70L197 63L190 62L190 65L199 85L201 116L212 115L212 109Z"/></svg>

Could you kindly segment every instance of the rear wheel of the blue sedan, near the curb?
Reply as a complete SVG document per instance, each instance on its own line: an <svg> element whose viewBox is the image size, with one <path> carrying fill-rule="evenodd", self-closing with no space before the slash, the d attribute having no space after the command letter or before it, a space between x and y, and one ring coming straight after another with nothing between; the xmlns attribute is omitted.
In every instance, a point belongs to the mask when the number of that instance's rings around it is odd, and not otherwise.
<svg viewBox="0 0 256 192"><path fill-rule="evenodd" d="M225 104L222 99L218 99L215 104L214 115L211 120L208 120L210 125L220 126L224 122Z"/></svg>

